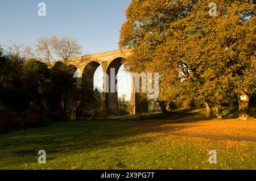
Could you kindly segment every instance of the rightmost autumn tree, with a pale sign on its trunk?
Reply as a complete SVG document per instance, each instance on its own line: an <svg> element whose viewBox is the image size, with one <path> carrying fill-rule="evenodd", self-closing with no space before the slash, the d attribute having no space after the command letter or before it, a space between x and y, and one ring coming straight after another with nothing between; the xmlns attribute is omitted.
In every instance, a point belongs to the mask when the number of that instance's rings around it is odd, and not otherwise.
<svg viewBox="0 0 256 181"><path fill-rule="evenodd" d="M256 87L255 10L255 1L232 2L220 25L221 30L228 30L220 34L220 39L225 43L226 60L229 61L226 71L238 95L241 119L250 117L249 100Z"/></svg>

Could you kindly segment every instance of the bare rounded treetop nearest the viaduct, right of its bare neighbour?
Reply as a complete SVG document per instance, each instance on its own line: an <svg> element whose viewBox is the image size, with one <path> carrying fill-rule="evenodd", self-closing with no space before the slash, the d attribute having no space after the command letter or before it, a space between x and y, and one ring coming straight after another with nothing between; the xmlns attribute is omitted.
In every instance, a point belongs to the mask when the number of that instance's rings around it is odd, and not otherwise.
<svg viewBox="0 0 256 181"><path fill-rule="evenodd" d="M66 65L70 58L81 55L81 49L77 40L72 37L60 37L55 40L54 52Z"/></svg>

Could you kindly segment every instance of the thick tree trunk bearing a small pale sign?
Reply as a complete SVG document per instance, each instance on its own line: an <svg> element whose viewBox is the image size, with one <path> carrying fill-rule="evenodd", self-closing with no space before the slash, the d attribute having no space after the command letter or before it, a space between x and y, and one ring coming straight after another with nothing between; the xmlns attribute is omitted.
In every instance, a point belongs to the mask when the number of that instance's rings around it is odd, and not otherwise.
<svg viewBox="0 0 256 181"><path fill-rule="evenodd" d="M250 104L249 104L249 91L244 89L238 92L238 104L239 104L239 118L247 120L250 118Z"/></svg>

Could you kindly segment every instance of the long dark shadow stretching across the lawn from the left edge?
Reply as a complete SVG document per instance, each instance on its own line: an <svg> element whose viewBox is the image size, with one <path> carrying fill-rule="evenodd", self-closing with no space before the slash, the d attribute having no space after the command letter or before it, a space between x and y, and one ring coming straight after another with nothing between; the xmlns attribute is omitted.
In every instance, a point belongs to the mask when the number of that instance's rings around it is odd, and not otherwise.
<svg viewBox="0 0 256 181"><path fill-rule="evenodd" d="M236 108L225 108L231 116ZM0 160L7 164L36 162L39 150L46 150L49 158L79 154L80 150L94 151L124 148L142 140L154 141L146 137L149 132L176 132L197 125L179 125L208 121L200 110L179 110L170 114L154 113L142 115L142 120L97 120L52 123L49 127L27 129L0 135ZM16 158L16 159L13 159ZM26 158L26 159L24 159ZM1 165L0 165L1 167Z"/></svg>

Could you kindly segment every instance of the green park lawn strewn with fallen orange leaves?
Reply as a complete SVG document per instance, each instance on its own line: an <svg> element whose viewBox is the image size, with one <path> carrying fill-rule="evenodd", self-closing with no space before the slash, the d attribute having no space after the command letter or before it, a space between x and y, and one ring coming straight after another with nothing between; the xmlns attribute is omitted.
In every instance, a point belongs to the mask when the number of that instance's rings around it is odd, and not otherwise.
<svg viewBox="0 0 256 181"><path fill-rule="evenodd" d="M256 119L235 119L236 108L224 113L218 120L180 110L2 134L0 169L256 169ZM39 150L46 164L38 163ZM216 164L209 150L217 151Z"/></svg>

